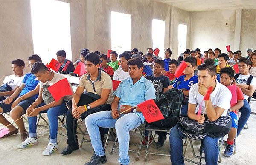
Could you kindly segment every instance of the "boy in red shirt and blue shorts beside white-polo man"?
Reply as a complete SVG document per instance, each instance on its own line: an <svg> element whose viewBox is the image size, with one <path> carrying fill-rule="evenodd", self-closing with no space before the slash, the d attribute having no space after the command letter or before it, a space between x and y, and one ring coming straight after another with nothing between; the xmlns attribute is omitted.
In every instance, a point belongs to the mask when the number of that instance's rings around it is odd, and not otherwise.
<svg viewBox="0 0 256 165"><path fill-rule="evenodd" d="M232 68L226 67L221 69L221 84L229 87L234 80L234 70ZM237 113L238 109L240 109L244 105L244 96L241 89L236 86L236 99L237 103L230 105L230 117L232 118L232 128L228 133L227 145L224 151L224 156L230 157L233 155L233 147L234 147L234 139L236 137L236 129L237 129Z"/></svg>

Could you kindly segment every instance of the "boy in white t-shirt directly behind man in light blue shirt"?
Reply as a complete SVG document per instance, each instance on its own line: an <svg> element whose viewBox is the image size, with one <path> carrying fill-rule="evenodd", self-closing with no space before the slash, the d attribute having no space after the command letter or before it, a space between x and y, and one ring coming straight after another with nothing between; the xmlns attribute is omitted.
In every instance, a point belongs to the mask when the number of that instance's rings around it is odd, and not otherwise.
<svg viewBox="0 0 256 165"><path fill-rule="evenodd" d="M131 59L131 56L127 52L123 52L119 55L119 63L120 63L120 69L117 69L114 72L114 78L113 80L122 81L124 79L130 78L129 75L129 66L127 65L127 61Z"/></svg>

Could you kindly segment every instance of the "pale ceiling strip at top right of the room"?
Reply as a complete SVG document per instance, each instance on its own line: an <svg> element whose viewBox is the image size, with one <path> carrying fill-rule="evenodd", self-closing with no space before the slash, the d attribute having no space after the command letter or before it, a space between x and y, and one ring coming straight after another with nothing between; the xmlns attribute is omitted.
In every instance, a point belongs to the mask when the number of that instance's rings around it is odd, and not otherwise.
<svg viewBox="0 0 256 165"><path fill-rule="evenodd" d="M157 0L187 11L256 9L256 0Z"/></svg>

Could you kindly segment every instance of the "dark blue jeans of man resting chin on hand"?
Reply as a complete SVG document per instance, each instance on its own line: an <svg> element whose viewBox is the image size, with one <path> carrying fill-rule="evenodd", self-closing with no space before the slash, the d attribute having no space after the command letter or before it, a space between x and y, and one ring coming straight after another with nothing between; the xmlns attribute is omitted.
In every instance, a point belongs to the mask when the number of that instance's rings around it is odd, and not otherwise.
<svg viewBox="0 0 256 165"><path fill-rule="evenodd" d="M170 131L170 148L172 165L184 165L182 138L186 137L175 125ZM204 138L204 155L206 165L217 165L218 163L218 139Z"/></svg>

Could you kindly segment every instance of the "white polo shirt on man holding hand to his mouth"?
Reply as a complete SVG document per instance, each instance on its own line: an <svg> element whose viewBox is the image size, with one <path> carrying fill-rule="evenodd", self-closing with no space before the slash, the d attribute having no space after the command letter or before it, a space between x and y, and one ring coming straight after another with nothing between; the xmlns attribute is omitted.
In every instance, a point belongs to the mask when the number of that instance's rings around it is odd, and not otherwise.
<svg viewBox="0 0 256 165"><path fill-rule="evenodd" d="M220 108L225 109L225 111L221 116L227 116L227 111L230 108L230 103L227 103L227 102L230 102L232 97L230 90L216 80L216 87L214 91L210 94L210 97L211 97L212 105L214 108L218 106ZM189 103L197 104L195 113L198 112L199 106L203 100L204 100L204 96L199 94L198 92L198 83L192 85L189 90ZM204 111L205 111L205 103L203 101L202 112Z"/></svg>

